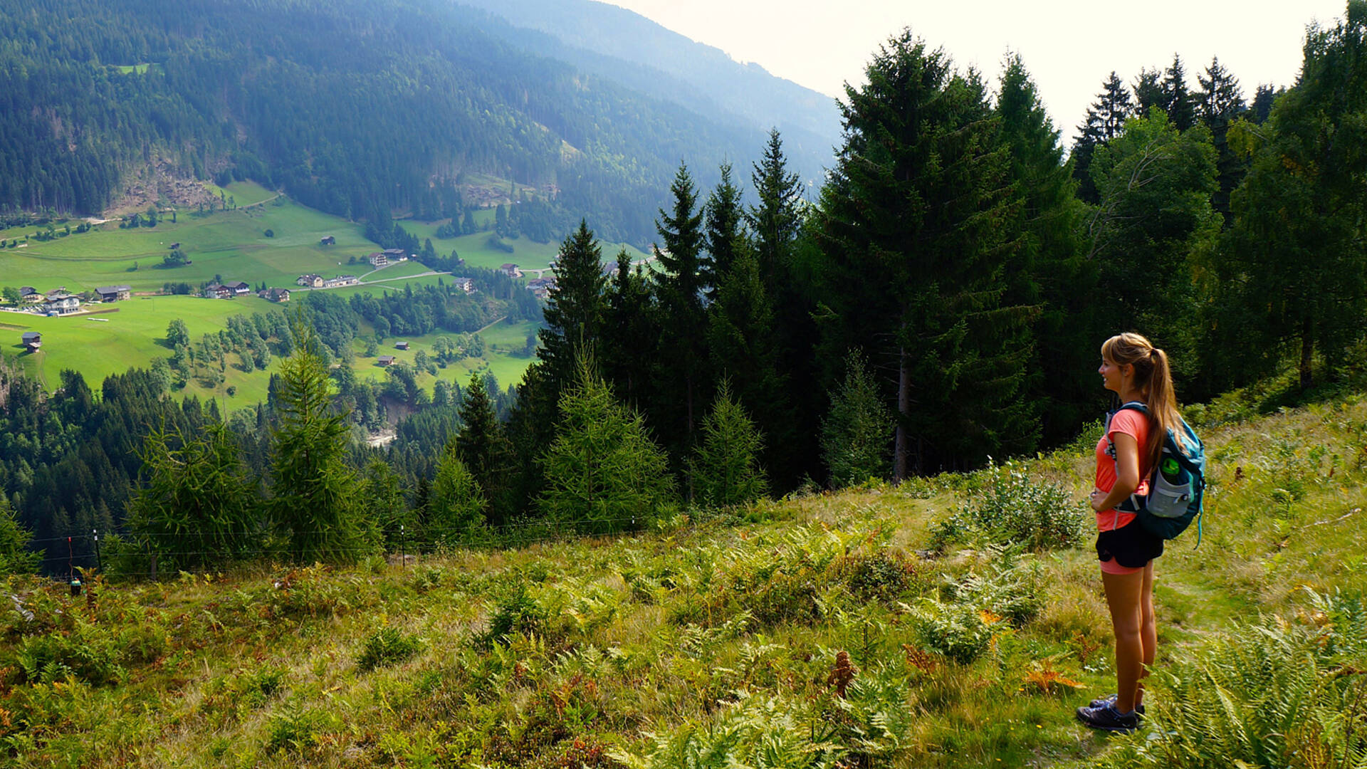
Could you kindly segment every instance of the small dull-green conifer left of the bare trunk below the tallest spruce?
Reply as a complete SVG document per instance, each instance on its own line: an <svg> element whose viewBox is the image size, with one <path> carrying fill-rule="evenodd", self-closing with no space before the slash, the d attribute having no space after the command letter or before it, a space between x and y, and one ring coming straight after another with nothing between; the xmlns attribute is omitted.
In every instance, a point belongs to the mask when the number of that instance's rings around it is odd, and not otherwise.
<svg viewBox="0 0 1367 769"><path fill-rule="evenodd" d="M858 350L845 357L845 382L830 398L830 412L822 420L822 461L830 471L831 487L887 478L893 467L893 413Z"/></svg>

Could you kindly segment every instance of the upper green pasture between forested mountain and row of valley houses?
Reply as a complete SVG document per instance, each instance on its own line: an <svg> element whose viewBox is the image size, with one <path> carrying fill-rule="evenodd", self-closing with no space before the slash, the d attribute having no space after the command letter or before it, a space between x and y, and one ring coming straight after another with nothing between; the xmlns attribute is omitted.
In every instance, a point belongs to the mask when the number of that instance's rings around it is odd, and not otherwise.
<svg viewBox="0 0 1367 769"><path fill-rule="evenodd" d="M81 291L127 283L134 291L154 291L165 282L198 285L220 276L288 287L303 272L354 274L358 265L347 265L347 259L375 250L360 224L284 198L202 216L180 213L176 219L174 224L165 220L135 230L120 230L111 222L79 235L0 250L0 281L38 290L66 286ZM265 237L265 230L275 237ZM320 245L325 235L335 237L336 245ZM175 242L191 264L164 268L161 259Z"/></svg>

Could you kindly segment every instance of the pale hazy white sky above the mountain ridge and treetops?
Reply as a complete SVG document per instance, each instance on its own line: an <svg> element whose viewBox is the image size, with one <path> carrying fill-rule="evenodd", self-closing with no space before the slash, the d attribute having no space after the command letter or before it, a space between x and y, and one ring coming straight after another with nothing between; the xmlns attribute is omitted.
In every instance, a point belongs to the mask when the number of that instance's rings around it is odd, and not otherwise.
<svg viewBox="0 0 1367 769"><path fill-rule="evenodd" d="M1173 53L1181 55L1192 89L1211 56L1239 78L1245 99L1258 83L1290 85L1305 25L1319 19L1330 26L1348 5L1345 0L607 1L831 96L842 96L846 81L861 83L872 52L904 26L931 47L943 47L960 67L976 66L994 83L1002 56L1016 51L1065 137L1111 70L1131 83L1140 67L1166 68Z"/></svg>

